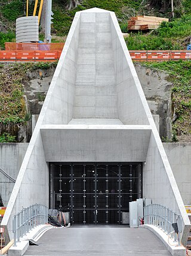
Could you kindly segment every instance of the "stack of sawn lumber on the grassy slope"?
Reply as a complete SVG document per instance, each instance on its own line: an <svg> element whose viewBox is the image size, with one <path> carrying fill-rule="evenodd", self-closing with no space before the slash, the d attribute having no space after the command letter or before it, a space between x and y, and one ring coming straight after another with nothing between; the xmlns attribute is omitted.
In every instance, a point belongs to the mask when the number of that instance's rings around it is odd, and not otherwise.
<svg viewBox="0 0 191 256"><path fill-rule="evenodd" d="M136 16L128 20L129 30L147 30L156 29L161 22L168 22L167 18L159 18L155 16Z"/></svg>

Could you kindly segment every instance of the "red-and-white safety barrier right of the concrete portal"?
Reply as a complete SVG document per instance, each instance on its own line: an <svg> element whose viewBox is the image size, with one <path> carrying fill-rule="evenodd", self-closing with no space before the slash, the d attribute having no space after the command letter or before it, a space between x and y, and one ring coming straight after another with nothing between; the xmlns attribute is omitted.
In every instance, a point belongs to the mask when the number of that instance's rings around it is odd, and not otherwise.
<svg viewBox="0 0 191 256"><path fill-rule="evenodd" d="M131 59L134 61L172 61L177 59L191 59L189 50L160 50L160 51L133 51L130 50Z"/></svg>

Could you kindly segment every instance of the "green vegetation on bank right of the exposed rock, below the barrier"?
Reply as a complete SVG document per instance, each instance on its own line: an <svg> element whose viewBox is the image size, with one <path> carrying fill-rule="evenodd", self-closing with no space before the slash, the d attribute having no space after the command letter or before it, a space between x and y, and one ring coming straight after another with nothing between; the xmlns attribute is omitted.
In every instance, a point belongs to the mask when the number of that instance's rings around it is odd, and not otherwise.
<svg viewBox="0 0 191 256"><path fill-rule="evenodd" d="M140 65L154 70L166 71L172 82L172 110L174 109L174 121L172 129L173 139L176 135L191 134L191 62L168 61L168 62L141 62Z"/></svg>

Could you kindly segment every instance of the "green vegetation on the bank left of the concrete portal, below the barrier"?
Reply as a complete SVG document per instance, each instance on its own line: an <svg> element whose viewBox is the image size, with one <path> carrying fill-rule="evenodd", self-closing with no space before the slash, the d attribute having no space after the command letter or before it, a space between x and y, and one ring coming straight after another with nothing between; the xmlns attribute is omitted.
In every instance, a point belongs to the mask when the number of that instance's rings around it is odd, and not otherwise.
<svg viewBox="0 0 191 256"><path fill-rule="evenodd" d="M56 67L57 62L14 63L0 65L0 141L14 142L19 128L26 125L30 113L26 112L23 83L27 72ZM42 97L41 97L42 98ZM42 99L41 99L42 100Z"/></svg>

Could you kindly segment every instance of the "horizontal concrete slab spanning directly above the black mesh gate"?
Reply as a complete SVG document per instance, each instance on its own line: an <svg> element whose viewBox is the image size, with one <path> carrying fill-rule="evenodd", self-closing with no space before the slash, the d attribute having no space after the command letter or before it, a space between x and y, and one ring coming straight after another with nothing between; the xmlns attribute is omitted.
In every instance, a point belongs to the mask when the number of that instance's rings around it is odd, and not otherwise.
<svg viewBox="0 0 191 256"><path fill-rule="evenodd" d="M46 161L143 162L150 129L141 125L47 125L41 134Z"/></svg>

